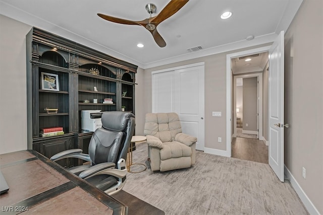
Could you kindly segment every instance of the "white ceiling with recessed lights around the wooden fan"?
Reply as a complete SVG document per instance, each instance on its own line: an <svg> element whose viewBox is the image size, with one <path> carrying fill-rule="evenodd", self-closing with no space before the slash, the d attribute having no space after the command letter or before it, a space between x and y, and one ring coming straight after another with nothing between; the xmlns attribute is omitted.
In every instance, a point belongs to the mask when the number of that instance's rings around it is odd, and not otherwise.
<svg viewBox="0 0 323 215"><path fill-rule="evenodd" d="M164 48L142 26L116 24L96 15L140 21L149 17L147 3L155 4L158 14L169 0L0 0L0 14L149 68L272 42L287 30L302 0L190 0L158 25L167 43ZM233 15L221 20L225 11ZM249 35L255 38L246 40ZM143 48L137 47L139 42ZM203 50L187 51L196 46Z"/></svg>

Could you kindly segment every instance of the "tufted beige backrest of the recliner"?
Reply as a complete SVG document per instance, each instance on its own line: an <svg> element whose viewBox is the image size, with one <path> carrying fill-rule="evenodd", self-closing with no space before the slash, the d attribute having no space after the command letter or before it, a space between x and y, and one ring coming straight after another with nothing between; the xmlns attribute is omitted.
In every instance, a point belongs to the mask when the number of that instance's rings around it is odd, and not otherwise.
<svg viewBox="0 0 323 215"><path fill-rule="evenodd" d="M162 142L171 142L182 133L180 118L177 113L147 113L145 118L145 135L153 135Z"/></svg>

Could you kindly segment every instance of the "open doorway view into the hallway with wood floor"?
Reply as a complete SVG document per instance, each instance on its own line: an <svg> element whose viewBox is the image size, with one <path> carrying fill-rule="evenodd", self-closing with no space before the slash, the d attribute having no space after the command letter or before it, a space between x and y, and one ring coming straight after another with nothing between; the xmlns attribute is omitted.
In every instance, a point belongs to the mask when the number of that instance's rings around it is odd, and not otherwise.
<svg viewBox="0 0 323 215"><path fill-rule="evenodd" d="M233 77L233 132L231 157L268 164L263 137L263 92L267 82L268 52L231 59ZM267 121L267 120L265 120ZM266 133L266 132L265 132Z"/></svg>

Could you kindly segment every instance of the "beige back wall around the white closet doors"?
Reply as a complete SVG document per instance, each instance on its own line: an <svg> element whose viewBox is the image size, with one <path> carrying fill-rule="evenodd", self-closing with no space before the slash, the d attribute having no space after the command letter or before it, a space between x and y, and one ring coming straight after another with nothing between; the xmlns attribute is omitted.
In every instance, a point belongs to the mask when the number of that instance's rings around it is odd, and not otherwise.
<svg viewBox="0 0 323 215"><path fill-rule="evenodd" d="M263 44L261 46L267 46L270 44ZM191 63L204 62L205 63L205 77L204 77L204 92L205 92L205 104L204 104L204 119L205 119L205 148L215 150L226 150L226 62L227 54L244 51L247 49L258 48L261 46L253 46L244 49L238 49L230 52L224 52L219 54L213 54L205 57L195 58L191 60L185 60L177 63L167 64L163 66L157 66L143 71L144 74L144 107L136 108L137 115L144 116L146 113L151 112L151 71L172 68L181 65L187 65ZM139 87L139 86L138 86ZM212 117L212 111L221 111L222 117ZM142 112L142 113L141 113ZM136 121L136 133L143 134L143 124L139 124ZM218 142L218 137L222 137L222 142Z"/></svg>

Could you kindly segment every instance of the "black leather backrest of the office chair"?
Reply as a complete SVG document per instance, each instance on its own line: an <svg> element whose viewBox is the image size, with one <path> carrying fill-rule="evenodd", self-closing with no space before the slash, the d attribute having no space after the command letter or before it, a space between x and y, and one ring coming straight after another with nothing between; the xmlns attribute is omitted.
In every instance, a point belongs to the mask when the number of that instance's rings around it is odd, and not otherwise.
<svg viewBox="0 0 323 215"><path fill-rule="evenodd" d="M102 127L94 131L89 144L92 165L126 160L135 129L135 116L129 112L106 111L101 117Z"/></svg>

